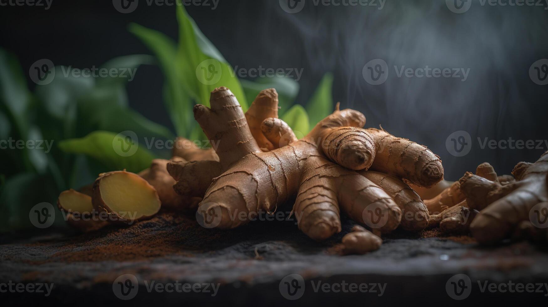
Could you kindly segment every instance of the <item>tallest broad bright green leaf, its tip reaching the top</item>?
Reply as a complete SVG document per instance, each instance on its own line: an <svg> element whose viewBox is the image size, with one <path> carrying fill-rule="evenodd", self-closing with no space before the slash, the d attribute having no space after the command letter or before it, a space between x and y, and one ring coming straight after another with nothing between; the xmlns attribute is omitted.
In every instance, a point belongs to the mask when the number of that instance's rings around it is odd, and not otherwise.
<svg viewBox="0 0 548 307"><path fill-rule="evenodd" d="M227 87L238 99L242 110L246 111L246 96L236 73L213 44L205 39L183 5L177 6L177 20L179 47L176 62L185 89L195 101L209 106L212 90L221 86Z"/></svg>

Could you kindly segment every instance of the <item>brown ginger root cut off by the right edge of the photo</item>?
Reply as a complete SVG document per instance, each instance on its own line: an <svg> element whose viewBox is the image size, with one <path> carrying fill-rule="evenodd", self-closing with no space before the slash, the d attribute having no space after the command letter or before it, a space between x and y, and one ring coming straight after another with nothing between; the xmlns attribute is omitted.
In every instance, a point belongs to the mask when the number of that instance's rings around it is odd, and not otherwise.
<svg viewBox="0 0 548 307"><path fill-rule="evenodd" d="M512 174L516 181L505 185L471 173L459 180L470 208L480 211L470 225L479 243L503 240L519 231L523 221L538 223L538 228L547 222L548 151L535 163L518 163Z"/></svg>

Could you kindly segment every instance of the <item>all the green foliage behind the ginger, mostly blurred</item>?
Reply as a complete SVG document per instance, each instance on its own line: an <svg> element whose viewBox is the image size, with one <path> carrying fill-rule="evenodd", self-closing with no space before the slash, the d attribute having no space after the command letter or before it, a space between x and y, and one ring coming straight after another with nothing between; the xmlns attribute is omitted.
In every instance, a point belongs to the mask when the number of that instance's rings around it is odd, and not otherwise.
<svg viewBox="0 0 548 307"><path fill-rule="evenodd" d="M53 81L36 86L32 92L19 61L0 48L0 140L24 144L32 141L35 145L36 141L45 141L40 148L8 146L0 150L0 231L31 226L28 214L32 206L40 202L54 204L61 191L91 184L99 173L120 169L139 172L153 158L170 156L167 150L152 149L146 140L173 140L175 135L203 139L203 132L193 120L192 106L209 106L209 93L216 87L230 88L244 111L262 89L276 88L279 117L298 137L333 111L332 75L322 78L309 103L295 104L299 84L293 79L238 79L181 5L177 6L176 16L179 42L130 24L129 31L154 56L121 56L101 66L127 70L158 65L164 73L164 105L175 133L130 109L125 89L128 78L75 77L59 73L69 67L56 66ZM200 76L212 68L209 72L220 72L216 78ZM128 132L136 136L131 140L136 143L133 145L140 146L131 155L120 155L118 150L124 151L128 145L124 140ZM56 214L55 224L64 226L60 212Z"/></svg>

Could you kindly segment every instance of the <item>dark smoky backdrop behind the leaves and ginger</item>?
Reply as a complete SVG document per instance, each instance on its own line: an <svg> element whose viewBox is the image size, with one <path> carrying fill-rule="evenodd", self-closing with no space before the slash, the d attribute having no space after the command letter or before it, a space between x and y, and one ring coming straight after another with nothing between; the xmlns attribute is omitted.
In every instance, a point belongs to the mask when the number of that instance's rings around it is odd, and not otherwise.
<svg viewBox="0 0 548 307"><path fill-rule="evenodd" d="M377 1L378 2L378 1ZM548 58L548 10L544 7L482 6L464 14L445 1L386 0L378 7L325 7L307 0L296 14L277 0L220 0L218 7L186 7L202 32L232 66L304 69L298 103L312 95L326 72L335 76L333 96L362 111L367 127L383 125L399 137L429 146L441 156L446 178L456 180L484 161L509 173L519 161L533 162L546 150L481 149L477 138L545 140L548 86L529 78L529 67ZM28 78L39 59L55 65L100 66L121 55L151 54L127 31L129 22L176 39L173 6L140 0L122 14L112 1L53 0L52 7L0 7L0 46L15 53ZM364 81L362 69L381 58L389 78ZM397 78L393 66L470 68L460 78ZM34 84L28 81L33 88ZM170 127L157 66L141 67L128 84L130 105ZM466 130L470 154L454 157L446 139ZM536 145L536 144L535 144Z"/></svg>

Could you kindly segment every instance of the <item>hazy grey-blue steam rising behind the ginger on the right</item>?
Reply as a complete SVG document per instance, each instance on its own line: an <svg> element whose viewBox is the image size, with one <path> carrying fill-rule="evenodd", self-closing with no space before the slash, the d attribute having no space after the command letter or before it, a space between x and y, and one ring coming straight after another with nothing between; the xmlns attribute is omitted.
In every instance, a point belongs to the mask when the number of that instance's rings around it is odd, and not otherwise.
<svg viewBox="0 0 548 307"><path fill-rule="evenodd" d="M307 1L302 12L288 14L273 2L272 11L299 33L306 53L303 79L312 83L306 87L333 71L335 99L364 112L367 127L382 124L390 133L428 145L442 157L446 178L458 179L484 161L509 173L518 161L533 162L543 152L481 150L477 138L548 138L540 126L548 111L548 86L534 84L528 75L533 62L548 58L546 4L491 6L474 0L467 12L456 14L444 0L388 0L382 10ZM383 59L389 69L386 82L376 86L362 76L373 59ZM394 66L470 70L462 82L398 77ZM474 143L465 157L446 149L447 137L457 130L470 133Z"/></svg>

